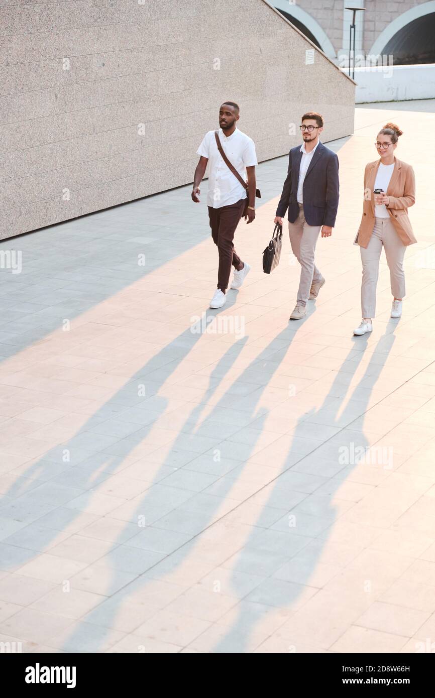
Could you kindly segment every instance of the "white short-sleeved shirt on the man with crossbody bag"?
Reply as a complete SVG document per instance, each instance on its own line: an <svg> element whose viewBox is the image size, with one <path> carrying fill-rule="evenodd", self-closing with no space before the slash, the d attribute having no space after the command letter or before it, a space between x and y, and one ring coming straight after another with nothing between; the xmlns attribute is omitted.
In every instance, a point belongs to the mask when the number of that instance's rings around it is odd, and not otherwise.
<svg viewBox="0 0 435 698"><path fill-rule="evenodd" d="M256 147L252 138L239 131L226 136L219 128L219 140L223 152L240 176L246 181L246 170L252 165L258 165ZM207 205L214 209L235 204L240 199L246 199L246 191L235 174L224 163L216 145L214 131L205 134L200 147L196 151L209 160L209 191Z"/></svg>

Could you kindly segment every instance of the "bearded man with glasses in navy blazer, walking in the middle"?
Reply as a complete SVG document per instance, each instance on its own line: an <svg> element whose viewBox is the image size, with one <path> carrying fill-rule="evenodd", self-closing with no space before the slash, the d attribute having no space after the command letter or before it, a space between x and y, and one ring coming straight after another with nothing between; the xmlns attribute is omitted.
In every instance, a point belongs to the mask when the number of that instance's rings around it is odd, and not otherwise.
<svg viewBox="0 0 435 698"><path fill-rule="evenodd" d="M290 320L301 320L308 300L315 299L325 279L314 262L316 242L330 237L339 205L339 158L320 143L323 117L307 112L300 126L302 146L290 150L288 173L274 223L281 223L288 209L288 232L293 254L301 265L295 309Z"/></svg>

